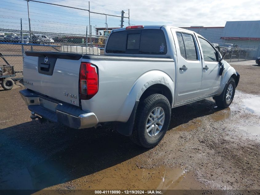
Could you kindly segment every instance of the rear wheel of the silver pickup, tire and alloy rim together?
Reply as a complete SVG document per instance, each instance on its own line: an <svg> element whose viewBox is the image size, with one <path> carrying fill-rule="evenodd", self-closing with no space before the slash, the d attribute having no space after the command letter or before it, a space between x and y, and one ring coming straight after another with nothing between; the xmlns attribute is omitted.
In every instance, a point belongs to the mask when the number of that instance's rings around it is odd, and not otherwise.
<svg viewBox="0 0 260 195"><path fill-rule="evenodd" d="M130 139L144 148L157 145L165 135L171 117L169 100L162 94L153 94L140 102Z"/></svg>

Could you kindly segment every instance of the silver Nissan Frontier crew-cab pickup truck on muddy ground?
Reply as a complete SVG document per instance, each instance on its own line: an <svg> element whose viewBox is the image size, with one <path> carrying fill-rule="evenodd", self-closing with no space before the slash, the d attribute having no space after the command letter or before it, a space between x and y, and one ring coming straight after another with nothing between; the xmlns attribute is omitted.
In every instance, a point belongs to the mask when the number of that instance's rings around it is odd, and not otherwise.
<svg viewBox="0 0 260 195"><path fill-rule="evenodd" d="M146 148L165 135L172 108L208 97L227 108L239 81L206 39L173 26L113 30L103 56L27 51L23 76L32 119L76 129L116 121Z"/></svg>

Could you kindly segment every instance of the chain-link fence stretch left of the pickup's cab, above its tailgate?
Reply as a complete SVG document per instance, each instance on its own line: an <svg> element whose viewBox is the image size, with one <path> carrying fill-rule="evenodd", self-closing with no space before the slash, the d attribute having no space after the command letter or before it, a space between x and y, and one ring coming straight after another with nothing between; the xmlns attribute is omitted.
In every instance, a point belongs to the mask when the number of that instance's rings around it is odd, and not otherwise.
<svg viewBox="0 0 260 195"><path fill-rule="evenodd" d="M0 53L2 57L14 66L16 76L22 79L23 56L25 51L64 51L82 54L103 55L106 35L60 34L47 32L29 32L19 30L3 30L6 36L0 39ZM22 36L21 36L22 35ZM0 58L0 67L7 66Z"/></svg>

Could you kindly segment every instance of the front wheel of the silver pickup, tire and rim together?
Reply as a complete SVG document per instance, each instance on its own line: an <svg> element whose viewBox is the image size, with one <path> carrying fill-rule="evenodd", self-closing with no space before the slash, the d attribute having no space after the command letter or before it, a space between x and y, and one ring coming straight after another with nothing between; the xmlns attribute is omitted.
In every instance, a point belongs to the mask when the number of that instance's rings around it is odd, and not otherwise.
<svg viewBox="0 0 260 195"><path fill-rule="evenodd" d="M236 84L234 78L230 78L226 84L225 89L223 90L222 94L219 96L215 96L215 102L218 107L227 108L233 101L234 95L236 90Z"/></svg>

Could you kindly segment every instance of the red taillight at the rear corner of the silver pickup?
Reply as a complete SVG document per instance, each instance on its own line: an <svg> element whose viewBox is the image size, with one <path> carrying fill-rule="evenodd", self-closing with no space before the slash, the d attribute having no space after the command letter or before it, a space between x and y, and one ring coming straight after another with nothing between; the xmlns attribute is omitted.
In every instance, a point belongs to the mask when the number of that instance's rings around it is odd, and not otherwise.
<svg viewBox="0 0 260 195"><path fill-rule="evenodd" d="M82 100L89 100L98 92L98 70L91 63L80 65L79 90Z"/></svg>

